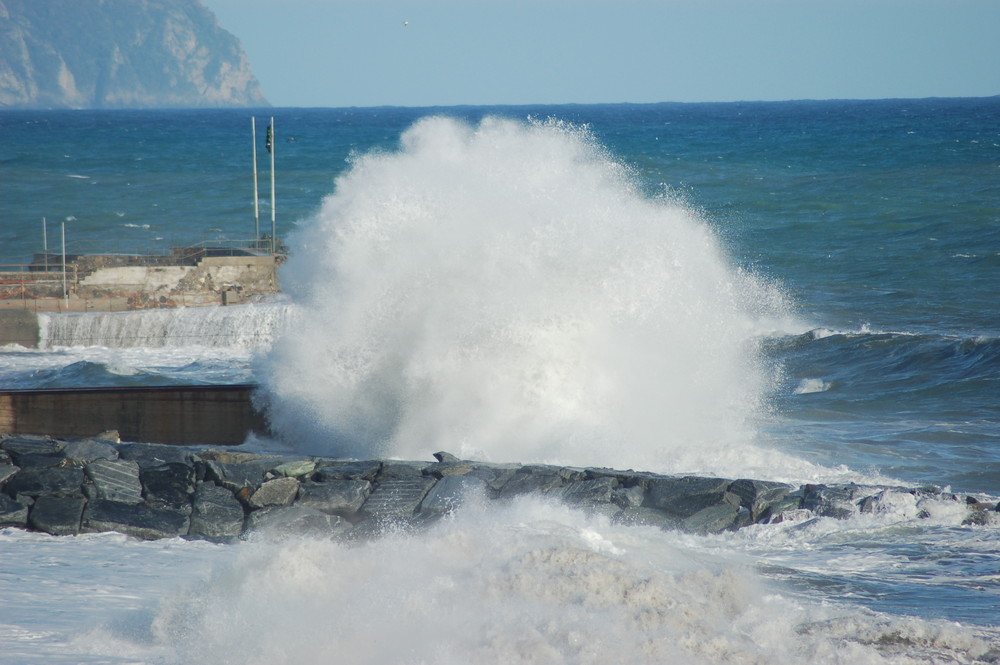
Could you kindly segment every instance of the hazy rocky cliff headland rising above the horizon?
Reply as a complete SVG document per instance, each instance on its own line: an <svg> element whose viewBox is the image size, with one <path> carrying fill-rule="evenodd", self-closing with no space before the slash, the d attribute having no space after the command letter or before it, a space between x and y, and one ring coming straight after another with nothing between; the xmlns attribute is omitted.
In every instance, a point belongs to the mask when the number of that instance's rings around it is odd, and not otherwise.
<svg viewBox="0 0 1000 665"><path fill-rule="evenodd" d="M199 0L0 0L0 108L266 105Z"/></svg>

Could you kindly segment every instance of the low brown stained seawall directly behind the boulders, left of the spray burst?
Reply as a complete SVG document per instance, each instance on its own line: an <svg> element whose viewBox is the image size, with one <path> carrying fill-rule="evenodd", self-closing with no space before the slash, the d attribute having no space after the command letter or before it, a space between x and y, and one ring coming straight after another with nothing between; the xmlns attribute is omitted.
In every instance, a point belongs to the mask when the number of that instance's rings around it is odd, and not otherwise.
<svg viewBox="0 0 1000 665"><path fill-rule="evenodd" d="M117 430L125 441L238 445L265 430L255 386L166 386L0 391L0 434L86 437Z"/></svg>

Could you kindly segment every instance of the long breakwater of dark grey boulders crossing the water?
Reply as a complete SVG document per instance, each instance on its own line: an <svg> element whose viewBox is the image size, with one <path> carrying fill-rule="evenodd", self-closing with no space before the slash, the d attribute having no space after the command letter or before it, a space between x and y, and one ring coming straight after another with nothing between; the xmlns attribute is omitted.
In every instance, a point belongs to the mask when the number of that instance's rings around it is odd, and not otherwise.
<svg viewBox="0 0 1000 665"><path fill-rule="evenodd" d="M539 495L624 524L711 534L752 524L850 518L900 495L964 504L967 523L1000 505L939 488L802 485L604 468L349 460L102 438L0 438L0 528L53 535L115 531L141 539L232 542L257 531L370 538L417 528L467 501Z"/></svg>

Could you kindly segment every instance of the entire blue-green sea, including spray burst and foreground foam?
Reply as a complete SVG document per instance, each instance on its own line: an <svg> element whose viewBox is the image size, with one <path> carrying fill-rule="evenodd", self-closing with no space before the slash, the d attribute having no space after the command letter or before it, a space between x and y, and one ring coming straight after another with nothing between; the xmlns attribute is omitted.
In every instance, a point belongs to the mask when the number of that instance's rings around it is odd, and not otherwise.
<svg viewBox="0 0 1000 665"><path fill-rule="evenodd" d="M253 382L274 436L244 450L882 497L705 536L540 497L363 543L7 528L4 663L1000 662L1000 513L967 509L1000 501L1000 98L0 111L0 137L5 264L288 251L268 300L42 313L4 389Z"/></svg>

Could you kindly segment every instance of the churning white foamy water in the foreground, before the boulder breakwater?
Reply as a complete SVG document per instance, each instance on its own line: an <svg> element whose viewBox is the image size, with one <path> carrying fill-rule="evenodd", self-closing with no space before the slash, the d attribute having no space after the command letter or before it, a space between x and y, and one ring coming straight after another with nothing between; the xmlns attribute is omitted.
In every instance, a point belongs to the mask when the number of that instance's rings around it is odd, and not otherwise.
<svg viewBox="0 0 1000 665"><path fill-rule="evenodd" d="M535 499L357 545L3 536L10 665L975 662L995 638L795 594L714 539Z"/></svg>

